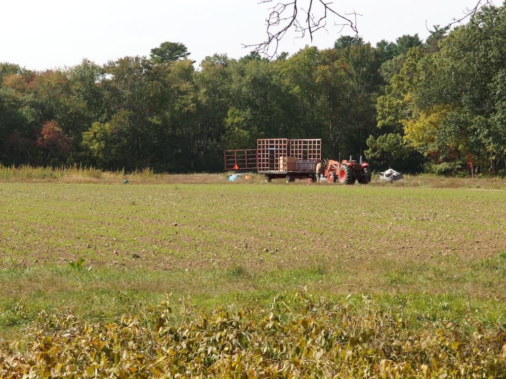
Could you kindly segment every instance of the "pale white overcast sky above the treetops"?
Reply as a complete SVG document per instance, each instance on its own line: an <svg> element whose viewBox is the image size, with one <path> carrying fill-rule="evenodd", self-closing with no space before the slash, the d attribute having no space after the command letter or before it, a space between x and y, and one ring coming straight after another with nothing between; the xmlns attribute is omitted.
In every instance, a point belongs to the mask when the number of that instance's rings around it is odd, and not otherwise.
<svg viewBox="0 0 506 379"><path fill-rule="evenodd" d="M104 64L124 56L149 55L163 41L184 43L199 63L214 53L239 58L242 44L265 39L270 4L260 0L0 0L0 62L33 70L63 68L83 58ZM307 4L308 0L299 3ZM375 44L403 34L429 35L426 25L446 25L477 0L334 0L355 11L359 35ZM497 1L495 2L497 3ZM340 35L331 25L313 42L287 34L278 51L296 53L306 44L324 49Z"/></svg>

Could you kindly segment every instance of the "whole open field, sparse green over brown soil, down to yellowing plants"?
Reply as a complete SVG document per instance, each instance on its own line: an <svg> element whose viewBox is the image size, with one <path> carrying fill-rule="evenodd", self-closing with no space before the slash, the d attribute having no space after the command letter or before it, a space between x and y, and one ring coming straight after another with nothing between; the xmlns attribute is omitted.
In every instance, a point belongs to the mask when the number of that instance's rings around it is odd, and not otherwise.
<svg viewBox="0 0 506 379"><path fill-rule="evenodd" d="M504 194L1 183L0 330L18 335L41 309L117 319L171 292L209 310L303 288L357 304L370 295L413 325L471 319L504 329Z"/></svg>

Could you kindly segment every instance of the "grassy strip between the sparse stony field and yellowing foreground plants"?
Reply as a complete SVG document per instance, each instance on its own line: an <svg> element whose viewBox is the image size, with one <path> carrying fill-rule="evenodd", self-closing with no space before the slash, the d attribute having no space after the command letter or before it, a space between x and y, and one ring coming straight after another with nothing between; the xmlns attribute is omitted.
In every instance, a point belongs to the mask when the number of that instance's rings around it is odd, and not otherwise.
<svg viewBox="0 0 506 379"><path fill-rule="evenodd" d="M10 268L0 271L0 286L4 289L0 295L0 329L5 336L16 334L42 309L50 313L68 309L85 320L108 320L138 312L143 304L156 304L167 293L187 298L199 309L209 310L221 304L236 307L263 304L276 293L303 288L334 300L346 297L360 300L362 294L372 296L384 307L405 309L404 314L413 325L472 318L490 330L506 329L503 295L494 295L483 285L477 291L479 282L472 286L466 282L472 275L485 278L491 272L502 272L505 262L502 255L477 262L467 273L462 273L464 279L460 277L453 284L447 280L444 286L434 285L433 274L425 270L419 270L418 275L406 271L409 281L399 279L404 274L389 273L384 279L370 278L378 281L373 289L361 286L367 273L348 276L322 266L258 272L249 272L238 265L204 271L107 268L88 271L86 267L70 266ZM411 280L420 281L420 287L414 287ZM500 286L500 282L493 283L492 288L495 286ZM469 291L470 287L474 292Z"/></svg>

